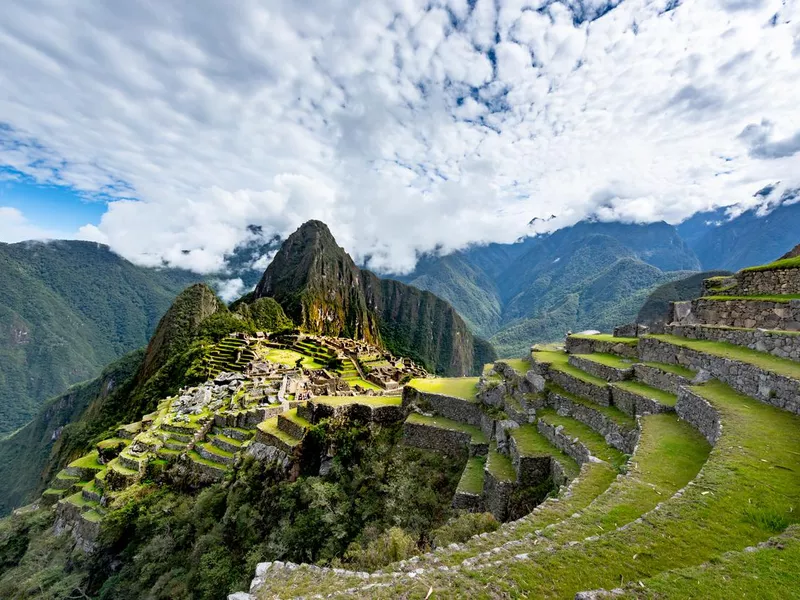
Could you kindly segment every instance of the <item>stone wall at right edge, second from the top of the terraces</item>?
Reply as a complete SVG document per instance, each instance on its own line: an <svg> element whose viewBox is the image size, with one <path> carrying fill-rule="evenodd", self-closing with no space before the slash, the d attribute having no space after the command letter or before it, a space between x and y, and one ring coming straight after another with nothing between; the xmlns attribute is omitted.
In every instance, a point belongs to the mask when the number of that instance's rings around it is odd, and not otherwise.
<svg viewBox="0 0 800 600"><path fill-rule="evenodd" d="M673 302L670 322L675 325L722 325L800 331L800 300L708 300Z"/></svg>

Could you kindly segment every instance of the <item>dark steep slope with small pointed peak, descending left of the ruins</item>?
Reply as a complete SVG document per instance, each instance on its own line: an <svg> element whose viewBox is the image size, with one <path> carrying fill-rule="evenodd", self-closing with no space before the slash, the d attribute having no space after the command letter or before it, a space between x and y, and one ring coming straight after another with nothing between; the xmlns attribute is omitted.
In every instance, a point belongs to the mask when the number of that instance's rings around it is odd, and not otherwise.
<svg viewBox="0 0 800 600"><path fill-rule="evenodd" d="M230 314L209 287L189 287L160 320L146 350L53 398L30 423L0 441L0 514L40 493L104 430L137 420L174 392L193 360L191 345L201 326L217 313Z"/></svg>

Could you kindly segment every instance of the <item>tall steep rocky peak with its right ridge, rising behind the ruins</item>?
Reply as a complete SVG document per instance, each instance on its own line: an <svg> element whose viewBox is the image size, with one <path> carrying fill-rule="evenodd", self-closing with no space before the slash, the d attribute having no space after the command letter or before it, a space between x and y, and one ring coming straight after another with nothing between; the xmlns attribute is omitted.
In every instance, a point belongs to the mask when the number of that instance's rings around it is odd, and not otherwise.
<svg viewBox="0 0 800 600"><path fill-rule="evenodd" d="M492 360L452 306L358 268L320 221L286 239L252 297L274 298L306 331L384 345L431 371L465 375Z"/></svg>

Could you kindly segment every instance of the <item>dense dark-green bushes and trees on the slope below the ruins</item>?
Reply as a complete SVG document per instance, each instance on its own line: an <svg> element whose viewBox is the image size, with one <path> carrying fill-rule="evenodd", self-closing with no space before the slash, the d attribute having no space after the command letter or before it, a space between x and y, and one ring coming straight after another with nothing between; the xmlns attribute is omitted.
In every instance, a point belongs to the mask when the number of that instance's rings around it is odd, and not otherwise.
<svg viewBox="0 0 800 600"><path fill-rule="evenodd" d="M44 535L49 511L0 523L0 596L219 599L246 588L263 560L377 568L497 527L490 517L452 519L463 458L398 444L399 426L318 427L337 456L324 477L283 480L275 465L248 461L230 480L200 491L153 485L104 522L86 559ZM318 464L317 464L318 466ZM26 595L29 594L29 595ZM77 594L77 595L76 595Z"/></svg>

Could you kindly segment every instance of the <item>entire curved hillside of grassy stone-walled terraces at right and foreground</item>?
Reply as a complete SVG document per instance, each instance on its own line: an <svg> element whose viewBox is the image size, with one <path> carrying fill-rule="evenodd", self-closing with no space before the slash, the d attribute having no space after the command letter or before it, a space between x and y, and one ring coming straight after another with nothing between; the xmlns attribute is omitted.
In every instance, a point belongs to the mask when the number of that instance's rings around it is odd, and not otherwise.
<svg viewBox="0 0 800 600"><path fill-rule="evenodd" d="M405 387L405 443L466 456L453 504L497 531L369 573L262 563L229 598L797 597L800 265L706 290L664 334Z"/></svg>

